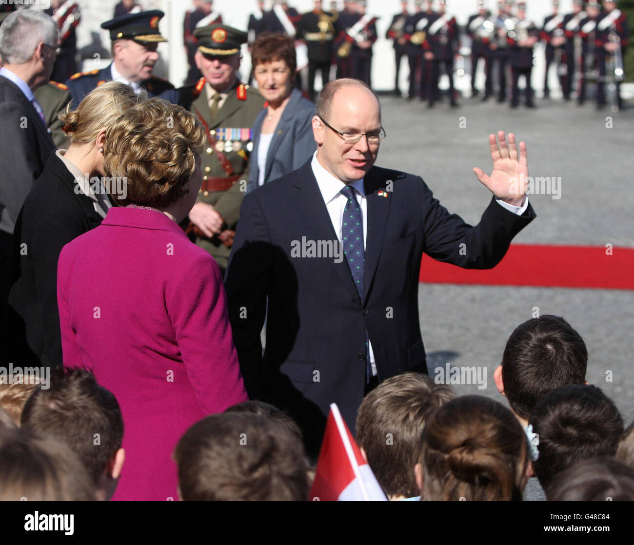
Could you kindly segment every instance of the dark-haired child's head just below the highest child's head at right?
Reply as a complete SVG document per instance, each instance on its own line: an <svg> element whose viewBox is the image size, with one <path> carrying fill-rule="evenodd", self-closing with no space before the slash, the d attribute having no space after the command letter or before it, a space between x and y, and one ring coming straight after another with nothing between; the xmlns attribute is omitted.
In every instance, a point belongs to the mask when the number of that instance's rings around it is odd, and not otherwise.
<svg viewBox="0 0 634 545"><path fill-rule="evenodd" d="M577 461L614 456L623 435L621 414L596 386L555 388L536 404L530 422L540 442L533 468L545 490Z"/></svg>

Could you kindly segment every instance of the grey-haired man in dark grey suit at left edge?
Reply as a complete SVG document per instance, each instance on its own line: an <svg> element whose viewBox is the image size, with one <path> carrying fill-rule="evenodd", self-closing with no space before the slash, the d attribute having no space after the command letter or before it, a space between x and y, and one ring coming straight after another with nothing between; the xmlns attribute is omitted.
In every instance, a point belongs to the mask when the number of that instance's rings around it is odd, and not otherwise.
<svg viewBox="0 0 634 545"><path fill-rule="evenodd" d="M0 27L0 125L4 132L0 146L0 331L4 331L15 221L55 150L33 92L50 79L57 49L57 27L43 11L15 11Z"/></svg>

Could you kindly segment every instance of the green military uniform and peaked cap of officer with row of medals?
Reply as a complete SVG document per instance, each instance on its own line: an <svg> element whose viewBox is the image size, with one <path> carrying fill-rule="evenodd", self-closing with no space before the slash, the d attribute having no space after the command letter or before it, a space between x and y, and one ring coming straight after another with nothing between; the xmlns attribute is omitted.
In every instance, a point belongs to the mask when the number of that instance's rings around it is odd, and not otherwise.
<svg viewBox="0 0 634 545"><path fill-rule="evenodd" d="M203 54L238 54L240 44L247 41L247 34L227 25L214 24L201 27L194 32ZM222 107L212 119L205 79L196 84L178 89L179 104L195 113L207 129L207 146L202 158L202 188L197 202L216 208L224 218L226 229L235 230L240 214L240 205L249 179L249 155L253 149L251 127L257 114L264 107L264 98L256 89L236 80L230 88ZM217 151L226 158L223 162ZM235 178L232 186L228 179ZM228 188L217 189L228 186ZM195 243L209 252L224 271L231 248L217 237L196 236Z"/></svg>

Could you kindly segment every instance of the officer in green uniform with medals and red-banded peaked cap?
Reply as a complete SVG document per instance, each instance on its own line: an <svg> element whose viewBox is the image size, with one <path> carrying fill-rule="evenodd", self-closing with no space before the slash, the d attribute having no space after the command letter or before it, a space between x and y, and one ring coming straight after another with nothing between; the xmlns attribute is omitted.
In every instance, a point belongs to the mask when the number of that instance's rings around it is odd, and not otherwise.
<svg viewBox="0 0 634 545"><path fill-rule="evenodd" d="M238 80L240 46L247 33L215 24L194 31L195 62L203 77L179 89L180 104L205 127L202 186L190 212L190 236L226 269L240 204L247 189L251 127L264 98Z"/></svg>

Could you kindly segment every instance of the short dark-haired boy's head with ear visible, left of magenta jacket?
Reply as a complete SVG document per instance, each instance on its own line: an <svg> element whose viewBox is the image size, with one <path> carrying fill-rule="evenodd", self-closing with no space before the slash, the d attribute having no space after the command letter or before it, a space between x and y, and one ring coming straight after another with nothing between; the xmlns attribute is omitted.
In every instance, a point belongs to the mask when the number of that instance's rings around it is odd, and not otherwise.
<svg viewBox="0 0 634 545"><path fill-rule="evenodd" d="M24 406L22 426L54 437L77 453L101 499L110 499L124 462L123 420L112 392L83 369L60 370L48 390Z"/></svg>

